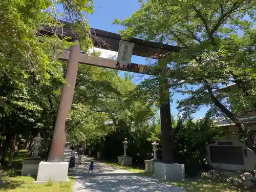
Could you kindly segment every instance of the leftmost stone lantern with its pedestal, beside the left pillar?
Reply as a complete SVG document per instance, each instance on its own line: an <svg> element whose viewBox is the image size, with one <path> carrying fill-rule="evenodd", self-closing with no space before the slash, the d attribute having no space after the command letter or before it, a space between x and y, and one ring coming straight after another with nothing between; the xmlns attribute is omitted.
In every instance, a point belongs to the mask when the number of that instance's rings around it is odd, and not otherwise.
<svg viewBox="0 0 256 192"><path fill-rule="evenodd" d="M45 161L45 159L41 159L38 157L38 153L41 147L40 133L37 134L37 137L34 138L32 143L32 158L24 159L22 162L22 175L23 176L36 176L38 171L38 166L41 161Z"/></svg>

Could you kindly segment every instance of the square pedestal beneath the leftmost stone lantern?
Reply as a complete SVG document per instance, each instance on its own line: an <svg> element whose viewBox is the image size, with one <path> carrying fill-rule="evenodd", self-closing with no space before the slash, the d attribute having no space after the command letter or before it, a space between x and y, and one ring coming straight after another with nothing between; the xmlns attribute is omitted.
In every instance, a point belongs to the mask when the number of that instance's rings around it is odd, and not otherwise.
<svg viewBox="0 0 256 192"><path fill-rule="evenodd" d="M22 176L36 176L41 161L45 161L45 159L24 159L22 161Z"/></svg>

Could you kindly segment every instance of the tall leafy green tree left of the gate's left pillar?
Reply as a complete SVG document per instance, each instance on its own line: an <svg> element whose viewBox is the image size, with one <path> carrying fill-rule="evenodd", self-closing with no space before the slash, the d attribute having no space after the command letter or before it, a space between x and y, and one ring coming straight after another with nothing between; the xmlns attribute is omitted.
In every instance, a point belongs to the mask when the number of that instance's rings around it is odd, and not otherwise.
<svg viewBox="0 0 256 192"><path fill-rule="evenodd" d="M61 16L74 23L73 29L87 52L92 40L81 12L92 13L92 1L0 2L0 97L6 99L0 107L0 134L5 138L2 163L19 135L29 139L40 131L42 136L51 137L61 85L66 82L66 65L57 56L72 45L58 36L40 34L42 26L61 26L56 20L60 16L56 5L63 6Z"/></svg>

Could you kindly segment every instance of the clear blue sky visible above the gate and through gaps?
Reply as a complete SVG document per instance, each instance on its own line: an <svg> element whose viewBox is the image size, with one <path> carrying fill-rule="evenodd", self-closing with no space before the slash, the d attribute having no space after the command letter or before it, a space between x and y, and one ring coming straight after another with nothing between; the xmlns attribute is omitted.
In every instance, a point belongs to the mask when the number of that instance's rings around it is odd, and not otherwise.
<svg viewBox="0 0 256 192"><path fill-rule="evenodd" d="M94 0L94 4L94 14L88 15L90 26L92 28L110 31L113 33L118 33L118 30L123 29L122 26L111 24L114 18L124 19L130 17L136 10L140 8L140 3L138 3L138 0L129 0L129 3L126 4L124 4L120 0ZM133 56L132 62L146 65L150 61L146 61L144 57ZM120 72L120 76L123 76L123 74L123 72ZM137 84L144 78L148 78L148 76L145 75L142 77L140 74L135 74L133 81ZM185 96L181 94L174 94L174 96L172 97L172 99L174 100L174 102L171 104L172 114L178 115L178 111L176 110L176 100L182 98L185 98ZM207 110L208 108L203 107L199 112L194 115L194 117L203 117Z"/></svg>

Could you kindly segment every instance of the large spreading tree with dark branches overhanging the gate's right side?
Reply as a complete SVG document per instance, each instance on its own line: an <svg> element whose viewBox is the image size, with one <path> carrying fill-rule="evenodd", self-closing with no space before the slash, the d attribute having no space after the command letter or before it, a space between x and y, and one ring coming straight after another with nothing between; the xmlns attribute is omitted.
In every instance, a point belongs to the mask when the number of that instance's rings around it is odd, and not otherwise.
<svg viewBox="0 0 256 192"><path fill-rule="evenodd" d="M219 91L223 84L236 82L244 93L254 95L255 84L255 1L147 1L123 25L124 38L140 37L183 47L178 53L157 55L168 63L168 83L173 91L187 94L179 109L187 115L202 105L220 110L248 138L243 123ZM236 35L243 32L242 37ZM161 62L158 66L163 66ZM252 86L245 86L249 82Z"/></svg>

